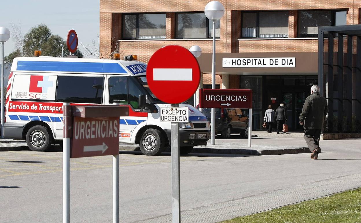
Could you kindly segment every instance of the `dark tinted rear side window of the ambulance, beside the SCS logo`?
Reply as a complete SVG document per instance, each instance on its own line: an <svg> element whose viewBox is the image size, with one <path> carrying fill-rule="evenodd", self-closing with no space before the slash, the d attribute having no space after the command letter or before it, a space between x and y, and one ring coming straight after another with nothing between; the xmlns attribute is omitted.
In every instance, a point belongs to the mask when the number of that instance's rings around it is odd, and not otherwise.
<svg viewBox="0 0 361 223"><path fill-rule="evenodd" d="M56 101L101 104L103 87L103 77L59 76Z"/></svg>

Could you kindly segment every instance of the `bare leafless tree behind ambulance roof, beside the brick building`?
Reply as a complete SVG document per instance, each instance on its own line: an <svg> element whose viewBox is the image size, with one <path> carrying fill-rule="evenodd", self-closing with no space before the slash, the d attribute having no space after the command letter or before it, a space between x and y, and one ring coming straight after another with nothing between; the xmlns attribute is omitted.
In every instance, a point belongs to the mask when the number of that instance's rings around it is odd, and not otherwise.
<svg viewBox="0 0 361 223"><path fill-rule="evenodd" d="M110 48L106 47L100 50L100 37L98 35L98 40L93 40L91 44L84 45L79 43L80 46L84 48L84 55L92 56L94 58L101 59L112 59L114 53L122 53L119 52L119 41L115 38L108 38L110 41L107 41L106 44L110 44ZM129 44L130 45L130 44ZM129 46L128 45L128 46ZM113 49L113 50L112 50Z"/></svg>

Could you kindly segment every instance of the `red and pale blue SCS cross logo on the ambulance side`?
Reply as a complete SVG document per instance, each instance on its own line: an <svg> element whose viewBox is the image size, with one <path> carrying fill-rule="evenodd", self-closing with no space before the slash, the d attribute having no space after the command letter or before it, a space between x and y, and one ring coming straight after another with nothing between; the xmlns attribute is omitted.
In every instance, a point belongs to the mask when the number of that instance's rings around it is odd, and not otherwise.
<svg viewBox="0 0 361 223"><path fill-rule="evenodd" d="M49 76L31 75L29 99L47 99L48 88L53 85L53 81L49 81Z"/></svg>

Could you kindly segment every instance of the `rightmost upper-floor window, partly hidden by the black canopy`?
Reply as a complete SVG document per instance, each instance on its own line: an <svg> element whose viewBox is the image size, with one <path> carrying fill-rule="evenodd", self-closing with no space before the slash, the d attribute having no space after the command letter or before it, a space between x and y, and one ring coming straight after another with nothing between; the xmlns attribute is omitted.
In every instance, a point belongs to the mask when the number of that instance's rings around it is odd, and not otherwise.
<svg viewBox="0 0 361 223"><path fill-rule="evenodd" d="M298 12L298 37L318 37L319 26L346 25L346 11L315 10Z"/></svg>

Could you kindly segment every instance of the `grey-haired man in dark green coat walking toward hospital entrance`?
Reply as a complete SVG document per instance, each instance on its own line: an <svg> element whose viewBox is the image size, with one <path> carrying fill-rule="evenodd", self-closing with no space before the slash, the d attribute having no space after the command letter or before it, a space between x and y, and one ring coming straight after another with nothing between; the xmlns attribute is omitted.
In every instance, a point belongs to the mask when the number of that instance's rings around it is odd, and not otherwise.
<svg viewBox="0 0 361 223"><path fill-rule="evenodd" d="M311 87L311 95L308 96L300 114L300 124L304 128L304 138L307 146L312 151L311 159L317 159L321 152L319 138L323 126L323 119L329 111L326 98L319 95L319 87Z"/></svg>

